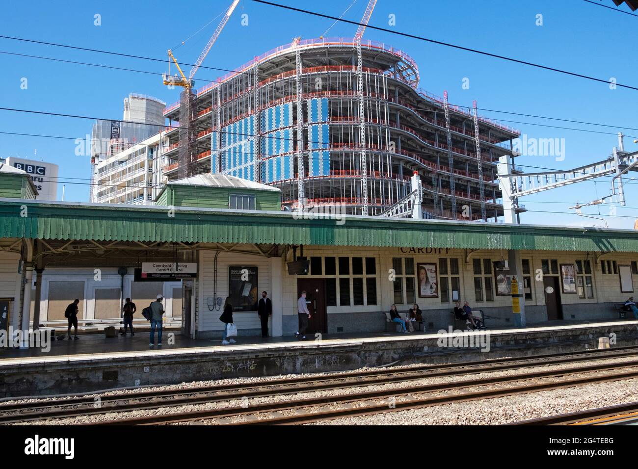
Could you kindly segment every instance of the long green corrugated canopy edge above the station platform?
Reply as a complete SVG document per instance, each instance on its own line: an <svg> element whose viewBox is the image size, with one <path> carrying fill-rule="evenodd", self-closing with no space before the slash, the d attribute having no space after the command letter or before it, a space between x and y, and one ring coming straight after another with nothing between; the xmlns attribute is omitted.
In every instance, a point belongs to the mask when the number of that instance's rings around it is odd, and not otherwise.
<svg viewBox="0 0 638 469"><path fill-rule="evenodd" d="M362 216L308 220L291 212L7 198L0 198L0 237L638 252L633 230Z"/></svg>

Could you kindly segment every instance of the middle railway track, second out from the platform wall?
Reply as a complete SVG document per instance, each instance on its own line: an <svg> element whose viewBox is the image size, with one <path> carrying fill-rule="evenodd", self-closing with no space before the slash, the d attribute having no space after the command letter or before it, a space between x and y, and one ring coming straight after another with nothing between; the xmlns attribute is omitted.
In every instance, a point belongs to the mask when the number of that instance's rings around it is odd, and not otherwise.
<svg viewBox="0 0 638 469"><path fill-rule="evenodd" d="M627 368L631 368L627 371ZM588 374L570 378L574 375ZM545 378L544 382L533 382ZM112 421L97 422L100 425L154 425L176 422L194 422L215 419L219 424L254 425L254 424L306 424L338 417L352 417L382 412L396 412L423 408L434 405L445 405L455 402L474 401L487 398L526 394L529 392L548 391L562 387L573 387L597 382L611 382L638 378L638 361L617 364L601 364L556 371L540 371L520 375L496 376L463 380L459 382L435 383L394 389L383 389L371 392L356 392L340 396L325 396L311 399L292 399L276 403L265 403L246 406L234 406L218 409L195 410L191 412L149 415ZM516 382L523 384L514 385ZM490 387L492 389L466 391L465 388ZM494 386L496 386L494 388ZM454 391L461 391L453 394ZM414 394L439 393L426 398L415 398ZM404 400L398 398L404 397ZM336 408L334 408L336 407ZM283 415L287 412L290 415Z"/></svg>

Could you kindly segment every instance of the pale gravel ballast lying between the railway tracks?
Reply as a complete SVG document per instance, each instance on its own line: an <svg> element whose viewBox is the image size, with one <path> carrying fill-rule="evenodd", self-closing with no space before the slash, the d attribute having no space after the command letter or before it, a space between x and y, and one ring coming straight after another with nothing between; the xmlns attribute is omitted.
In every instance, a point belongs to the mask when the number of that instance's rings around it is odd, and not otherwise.
<svg viewBox="0 0 638 469"><path fill-rule="evenodd" d="M619 357L616 359L598 359L586 362L566 363L552 366L535 366L531 368L519 368L505 371L482 371L480 373L481 378L488 378L491 376L511 376L526 372L542 371L542 370L560 370L565 368L575 368L576 366L586 366L588 364L601 364L601 363L614 363L630 361L632 357ZM368 368L369 369L369 368ZM359 371L359 370L357 370ZM300 377L300 376L313 376L313 377L329 377L330 373L317 373L306 375L286 375L286 376L268 376L262 378L238 378L228 380L216 380L207 382L193 382L182 383L180 385L172 386L158 386L150 389L161 389L162 391L169 391L171 389L190 389L193 387L199 387L202 385L221 385L221 384L239 384L239 383L255 383L258 387L260 382L266 380L272 380L273 378L288 378L288 377ZM471 375L477 376L477 375ZM279 396L270 396L263 398L251 398L248 401L241 400L241 394L235 399L229 399L228 401L220 401L216 403L198 404L198 405L182 405L172 407L154 408L148 410L137 410L131 412L117 412L109 414L97 414L87 415L82 417L70 417L63 419L50 419L47 421L34 421L24 422L23 424L78 424L78 423L91 423L100 422L106 420L112 420L116 418L133 418L143 417L149 415L166 415L168 413L175 412L193 412L195 410L205 409L218 409L233 406L241 406L242 402L248 403L247 410L249 411L250 405L263 404L263 403L276 403L281 401L287 401L290 399L311 399L323 396L340 396L343 394L352 394L353 392L366 392L366 391L379 391L383 389L396 389L415 385L427 385L433 383L451 383L463 380L468 380L468 375L436 377L436 378L420 378L416 380L410 380L403 383L388 383L383 385L369 385L361 387L350 387L347 390L344 389L330 389L316 392L304 392L300 394L282 394ZM621 384L622 383L622 384ZM604 391L603 391L604 390ZM614 392L612 392L614 390ZM617 392L615 392L617 391ZM585 408L592 408L595 406L605 406L614 403L630 402L631 397L635 396L638 391L638 380L626 380L623 382L612 383L599 383L593 385L586 385L578 388L560 389L557 391L544 391L536 392L533 394L525 394L522 396L512 396L508 398L494 398L485 399L479 402L473 403L456 403L452 405L441 405L436 407L430 407L419 410L404 410L387 412L380 415L362 416L362 417L348 417L341 418L335 421L321 422L321 424L491 424L491 423L505 423L510 421L519 421L523 419L531 419L542 417L545 415L554 415L556 413L573 412L574 410L583 410ZM130 391L117 391L100 394L102 397L114 395L114 394L130 394L135 390ZM563 403L561 399L554 396L567 396L567 399ZM588 396L591 394L591 399L588 401ZM97 396L93 395L93 396ZM413 396L421 396L421 394L413 394ZM542 398L539 396L548 396ZM582 399L577 399L574 396L582 396ZM622 400L625 398L628 400ZM494 405L495 401L503 401L500 404ZM507 399L513 399L508 401ZM540 401L538 401L540 399ZM603 399L603 400L601 400ZM633 398L635 400L635 398ZM64 400L64 399L61 399ZM403 399L401 399L403 400ZM18 401L19 402L19 401ZM556 410L561 407L557 405L564 404L568 406L568 410ZM562 405L561 404L561 405ZM356 404L358 406L358 404ZM565 407L567 408L567 407ZM544 410L549 413L539 413ZM287 411L286 411L287 412ZM509 420L508 420L509 419ZM207 424L214 424L216 420L207 420Z"/></svg>

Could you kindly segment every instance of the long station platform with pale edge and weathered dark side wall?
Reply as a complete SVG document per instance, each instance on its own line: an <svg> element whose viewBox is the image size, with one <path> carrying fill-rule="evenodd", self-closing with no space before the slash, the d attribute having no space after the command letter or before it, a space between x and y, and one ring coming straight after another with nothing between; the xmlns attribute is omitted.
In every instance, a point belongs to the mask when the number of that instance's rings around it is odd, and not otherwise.
<svg viewBox="0 0 638 469"><path fill-rule="evenodd" d="M0 398L414 362L530 357L597 348L602 337L610 338L612 348L638 345L638 320L554 321L471 333L323 334L321 340L308 336L306 341L294 336L239 336L232 345L179 334L169 344L165 334L161 347L149 346L148 332L117 338L87 335L77 341L53 341L49 352L5 348L0 352Z"/></svg>

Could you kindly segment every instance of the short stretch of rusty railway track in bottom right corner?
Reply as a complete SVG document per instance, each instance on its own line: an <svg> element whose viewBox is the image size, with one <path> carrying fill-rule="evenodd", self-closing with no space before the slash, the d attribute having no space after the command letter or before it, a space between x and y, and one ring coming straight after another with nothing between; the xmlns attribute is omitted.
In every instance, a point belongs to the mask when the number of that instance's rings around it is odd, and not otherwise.
<svg viewBox="0 0 638 469"><path fill-rule="evenodd" d="M540 417L508 425L628 425L638 423L638 402Z"/></svg>

